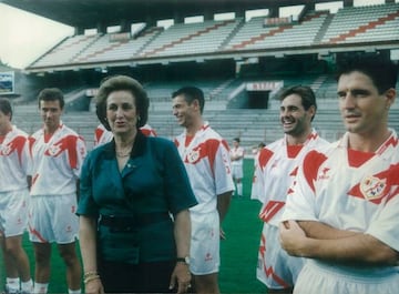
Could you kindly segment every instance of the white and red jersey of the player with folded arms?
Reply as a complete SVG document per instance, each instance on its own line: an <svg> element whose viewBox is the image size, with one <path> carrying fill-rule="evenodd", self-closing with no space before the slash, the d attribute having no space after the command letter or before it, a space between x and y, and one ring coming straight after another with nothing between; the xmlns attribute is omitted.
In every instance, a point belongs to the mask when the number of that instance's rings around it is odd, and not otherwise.
<svg viewBox="0 0 399 294"><path fill-rule="evenodd" d="M399 251L399 141L390 131L375 153L348 149L348 133L331 146L309 152L283 220L364 232Z"/></svg>

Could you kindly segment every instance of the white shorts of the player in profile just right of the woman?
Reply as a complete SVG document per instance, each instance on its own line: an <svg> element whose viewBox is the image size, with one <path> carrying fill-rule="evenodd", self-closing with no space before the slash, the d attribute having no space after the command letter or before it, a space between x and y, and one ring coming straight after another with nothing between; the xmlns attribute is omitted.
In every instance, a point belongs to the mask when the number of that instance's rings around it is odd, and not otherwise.
<svg viewBox="0 0 399 294"><path fill-rule="evenodd" d="M221 231L218 212L191 214L192 239L190 271L194 275L217 273L221 265Z"/></svg>

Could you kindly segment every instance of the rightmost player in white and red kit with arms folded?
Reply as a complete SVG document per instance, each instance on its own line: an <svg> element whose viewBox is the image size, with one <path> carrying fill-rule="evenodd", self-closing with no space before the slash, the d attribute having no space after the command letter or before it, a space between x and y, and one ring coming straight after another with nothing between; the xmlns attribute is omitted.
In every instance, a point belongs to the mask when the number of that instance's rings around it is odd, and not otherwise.
<svg viewBox="0 0 399 294"><path fill-rule="evenodd" d="M398 293L399 139L388 128L397 75L379 55L338 68L347 132L306 155L280 224L283 247L306 257L294 293Z"/></svg>

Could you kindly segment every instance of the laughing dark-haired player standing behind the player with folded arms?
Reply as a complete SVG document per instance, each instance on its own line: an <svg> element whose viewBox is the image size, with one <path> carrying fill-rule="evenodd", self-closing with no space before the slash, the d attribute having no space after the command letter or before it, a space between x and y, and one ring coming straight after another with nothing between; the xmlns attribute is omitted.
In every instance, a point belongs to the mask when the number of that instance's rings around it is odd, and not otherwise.
<svg viewBox="0 0 399 294"><path fill-rule="evenodd" d="M285 135L259 151L252 189L252 197L258 197L263 203L259 217L264 227L256 276L267 286L267 293L289 293L303 266L301 258L291 257L282 249L278 224L298 164L315 146L328 144L311 128L317 103L309 87L285 89L279 100L279 119Z"/></svg>

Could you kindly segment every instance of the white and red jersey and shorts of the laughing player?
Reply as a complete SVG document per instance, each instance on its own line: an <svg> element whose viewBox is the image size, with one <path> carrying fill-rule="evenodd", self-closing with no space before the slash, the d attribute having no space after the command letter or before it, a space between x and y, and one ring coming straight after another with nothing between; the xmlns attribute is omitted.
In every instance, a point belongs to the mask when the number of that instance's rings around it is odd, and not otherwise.
<svg viewBox="0 0 399 294"><path fill-rule="evenodd" d="M310 150L326 144L313 130L301 145L287 145L287 138L283 138L260 150L252 192L252 197L256 195L263 202L259 217L264 221L256 276L269 288L293 287L304 265L301 258L282 249L278 224L298 165Z"/></svg>

